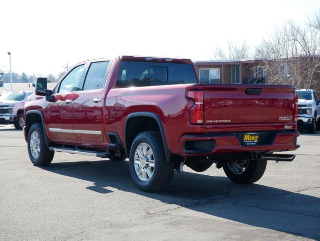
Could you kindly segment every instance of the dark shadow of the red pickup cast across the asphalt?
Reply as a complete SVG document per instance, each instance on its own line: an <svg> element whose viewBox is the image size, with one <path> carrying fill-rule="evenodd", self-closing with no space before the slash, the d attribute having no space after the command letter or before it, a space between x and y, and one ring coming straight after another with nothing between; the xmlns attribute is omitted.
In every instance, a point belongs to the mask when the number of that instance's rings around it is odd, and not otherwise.
<svg viewBox="0 0 320 241"><path fill-rule="evenodd" d="M53 163L43 169L93 182L87 189L102 194L113 192L108 189L112 187L243 224L320 239L320 198L300 193L308 189L290 192L259 184L238 185L226 177L183 172L175 173L165 191L145 193L134 185L127 161ZM149 210L148 215L167 209Z"/></svg>

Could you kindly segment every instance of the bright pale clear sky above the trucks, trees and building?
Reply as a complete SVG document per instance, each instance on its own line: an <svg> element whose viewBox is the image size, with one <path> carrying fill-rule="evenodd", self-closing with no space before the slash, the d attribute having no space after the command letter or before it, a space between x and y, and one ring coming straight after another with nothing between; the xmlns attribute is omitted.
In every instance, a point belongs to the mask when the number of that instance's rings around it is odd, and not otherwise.
<svg viewBox="0 0 320 241"><path fill-rule="evenodd" d="M2 1L0 69L58 74L69 62L147 55L208 60L228 41L257 45L286 20L303 23L320 0Z"/></svg>

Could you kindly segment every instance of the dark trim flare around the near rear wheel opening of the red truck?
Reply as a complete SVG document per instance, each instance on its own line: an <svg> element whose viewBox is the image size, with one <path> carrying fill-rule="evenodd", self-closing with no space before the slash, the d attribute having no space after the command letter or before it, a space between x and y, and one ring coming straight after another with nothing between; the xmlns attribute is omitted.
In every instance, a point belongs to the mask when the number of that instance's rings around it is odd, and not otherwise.
<svg viewBox="0 0 320 241"><path fill-rule="evenodd" d="M126 148L125 148L125 151L126 151L126 155L127 157L129 157L129 153L130 153L130 150L128 150L128 143L127 143L127 123L129 121L130 118L132 117L140 117L140 116L144 116L144 117L151 117L153 119L155 119L155 121L158 123L158 127L159 127L159 130L160 130L160 135L161 135L161 139L162 139L162 143L163 143L163 148L164 148L164 153L165 153L165 156L166 156L166 160L169 162L170 161L170 158L171 158L171 151L169 150L168 148L168 145L167 145L167 140L166 140L166 136L164 134L164 130L163 130L163 125L162 125L162 122L161 122L161 119L159 117L159 115L153 113L153 112L134 112L134 113L131 113L127 116L126 118L126 121L125 121L125 127L124 127L124 143L126 145Z"/></svg>

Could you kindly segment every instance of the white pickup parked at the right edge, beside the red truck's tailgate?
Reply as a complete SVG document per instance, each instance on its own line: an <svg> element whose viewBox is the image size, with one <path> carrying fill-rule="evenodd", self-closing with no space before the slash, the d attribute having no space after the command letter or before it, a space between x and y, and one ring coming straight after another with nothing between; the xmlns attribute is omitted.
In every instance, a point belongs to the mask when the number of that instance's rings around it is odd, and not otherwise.
<svg viewBox="0 0 320 241"><path fill-rule="evenodd" d="M315 133L320 126L320 100L312 89L297 89L298 94L298 129Z"/></svg>

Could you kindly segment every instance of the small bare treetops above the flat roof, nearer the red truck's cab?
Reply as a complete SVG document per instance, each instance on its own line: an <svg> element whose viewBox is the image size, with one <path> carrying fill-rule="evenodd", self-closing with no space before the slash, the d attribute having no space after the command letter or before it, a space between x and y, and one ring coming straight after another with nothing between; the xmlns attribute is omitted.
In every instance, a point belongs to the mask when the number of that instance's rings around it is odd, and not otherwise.
<svg viewBox="0 0 320 241"><path fill-rule="evenodd" d="M250 51L249 45L243 40L241 44L234 44L228 42L228 48L222 49L221 47L216 47L212 53L212 60L238 60L251 58L252 53Z"/></svg>

